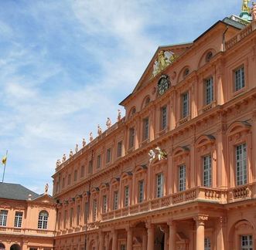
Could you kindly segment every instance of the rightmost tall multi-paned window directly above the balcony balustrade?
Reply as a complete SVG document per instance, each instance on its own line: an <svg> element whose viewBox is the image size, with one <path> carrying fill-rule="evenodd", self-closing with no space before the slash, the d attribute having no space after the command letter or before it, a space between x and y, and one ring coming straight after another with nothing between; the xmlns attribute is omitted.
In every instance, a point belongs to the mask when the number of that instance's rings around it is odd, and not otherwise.
<svg viewBox="0 0 256 250"><path fill-rule="evenodd" d="M247 154L246 144L236 147L237 185L247 183Z"/></svg>

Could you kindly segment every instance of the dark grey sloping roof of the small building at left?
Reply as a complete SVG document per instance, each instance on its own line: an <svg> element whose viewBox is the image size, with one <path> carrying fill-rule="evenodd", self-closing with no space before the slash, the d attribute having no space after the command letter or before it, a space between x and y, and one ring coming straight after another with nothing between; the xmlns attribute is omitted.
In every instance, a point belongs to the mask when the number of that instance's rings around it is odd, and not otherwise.
<svg viewBox="0 0 256 250"><path fill-rule="evenodd" d="M21 184L0 183L0 198L26 201L31 194L31 199L39 197L39 194L23 187Z"/></svg>

